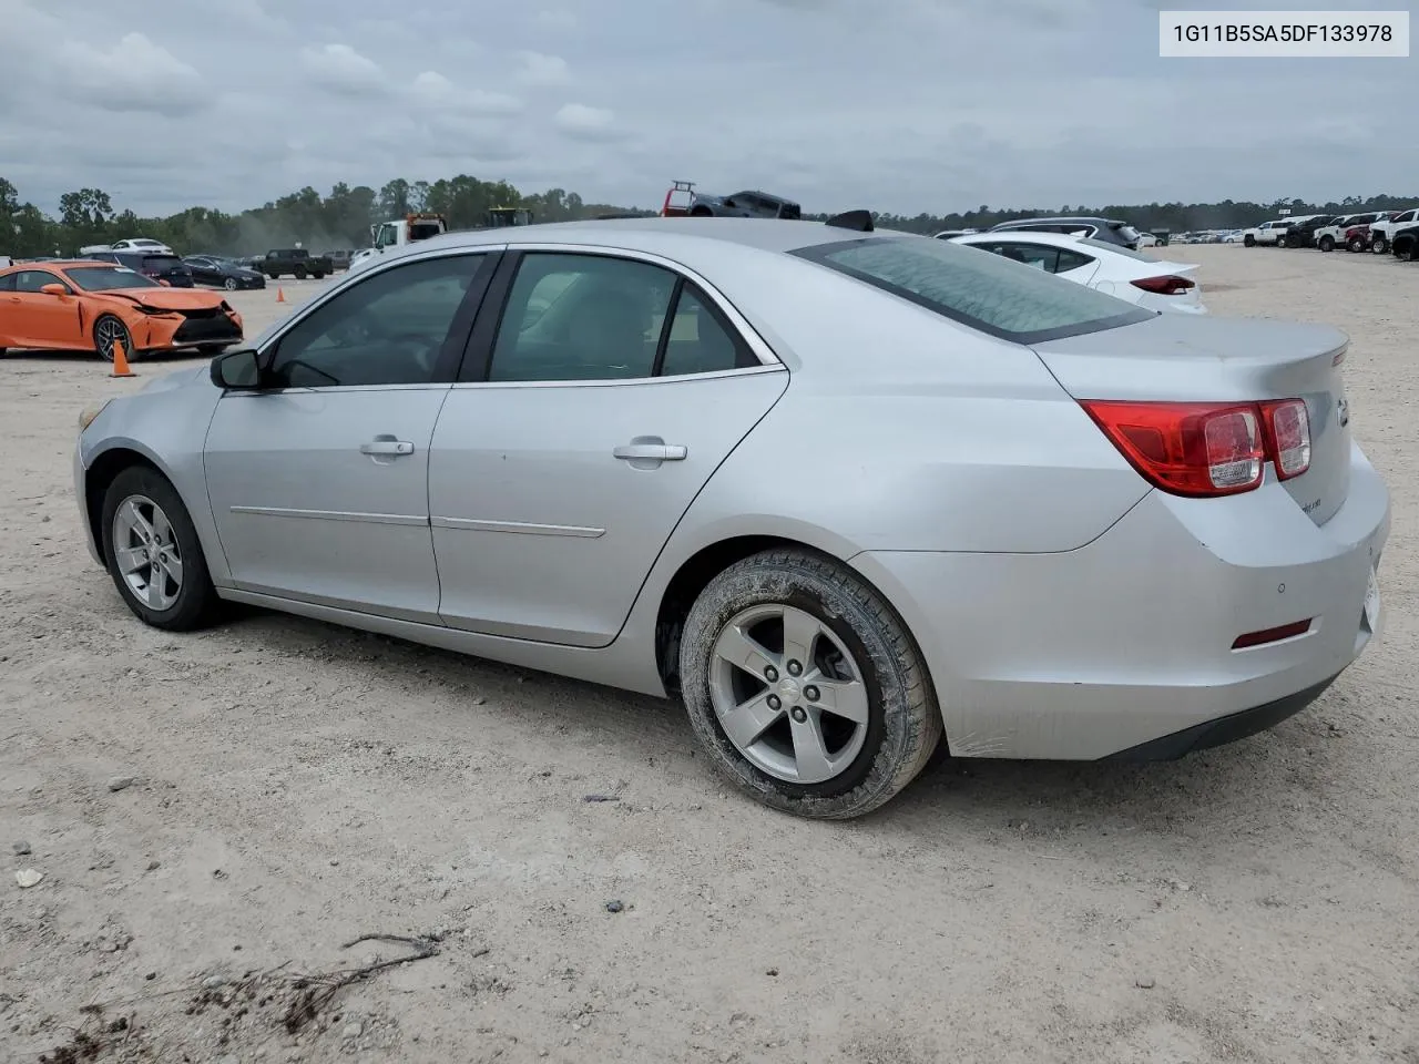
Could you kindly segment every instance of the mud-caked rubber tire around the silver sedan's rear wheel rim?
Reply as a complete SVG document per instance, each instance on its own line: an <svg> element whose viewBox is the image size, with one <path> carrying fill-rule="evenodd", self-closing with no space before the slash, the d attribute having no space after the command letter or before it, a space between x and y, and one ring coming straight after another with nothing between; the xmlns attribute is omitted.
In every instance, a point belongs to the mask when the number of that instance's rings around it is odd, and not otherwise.
<svg viewBox="0 0 1419 1064"><path fill-rule="evenodd" d="M861 749L836 776L803 785L769 775L731 742L710 692L714 645L736 614L783 604L810 613L860 663L868 701ZM680 640L681 695L695 738L735 787L772 809L820 820L868 813L925 767L942 735L921 651L883 597L840 562L809 550L765 550L701 592Z"/></svg>

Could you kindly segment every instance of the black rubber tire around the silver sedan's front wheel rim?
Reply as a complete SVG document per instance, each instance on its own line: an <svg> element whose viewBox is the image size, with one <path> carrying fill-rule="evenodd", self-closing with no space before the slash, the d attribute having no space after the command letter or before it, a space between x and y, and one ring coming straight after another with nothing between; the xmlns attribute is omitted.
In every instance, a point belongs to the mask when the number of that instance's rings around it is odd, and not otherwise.
<svg viewBox="0 0 1419 1064"><path fill-rule="evenodd" d="M172 525L173 541L182 562L182 584L170 607L155 610L142 602L128 586L119 572L116 545L114 542L114 518L123 502L132 497L145 497L162 506ZM102 533L104 563L108 566L118 594L139 620L155 628L167 631L193 631L211 623L217 614L217 592L211 586L207 559L201 553L201 542L193 528L187 508L167 478L148 465L129 465L121 471L104 492L99 532Z"/></svg>

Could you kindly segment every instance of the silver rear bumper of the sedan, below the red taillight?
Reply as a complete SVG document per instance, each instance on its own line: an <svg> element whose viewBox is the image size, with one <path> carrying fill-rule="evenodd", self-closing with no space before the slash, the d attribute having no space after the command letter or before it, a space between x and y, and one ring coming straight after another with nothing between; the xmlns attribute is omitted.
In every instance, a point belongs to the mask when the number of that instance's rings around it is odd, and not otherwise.
<svg viewBox="0 0 1419 1064"><path fill-rule="evenodd" d="M1155 491L1077 550L851 562L915 634L954 755L1147 758L1317 698L1381 633L1365 596L1388 532L1389 492L1352 447L1349 494L1321 526L1274 482L1230 499ZM1303 636L1232 648L1305 619Z"/></svg>

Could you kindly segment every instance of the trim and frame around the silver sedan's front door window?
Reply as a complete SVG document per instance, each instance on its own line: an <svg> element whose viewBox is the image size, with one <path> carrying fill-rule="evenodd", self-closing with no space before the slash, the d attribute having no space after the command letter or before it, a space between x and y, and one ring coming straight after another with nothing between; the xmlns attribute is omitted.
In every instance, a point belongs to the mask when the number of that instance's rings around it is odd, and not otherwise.
<svg viewBox="0 0 1419 1064"><path fill-rule="evenodd" d="M434 360L434 373L430 380L403 384L299 384L294 387L227 389L224 399L237 399L241 396L280 396L307 392L339 394L343 392L417 392L448 387L448 384L457 379L458 365L463 359L468 333L474 325L474 316L480 311L482 301L487 298L488 285L491 284L492 277L498 270L499 260L502 258L501 244L473 244L460 248L441 248L426 254L400 257L389 262L380 262L377 267L362 270L353 275L346 274L341 284L331 288L322 297L314 299L309 305L301 308L298 314L282 322L281 326L272 331L270 336L265 336L258 343L253 345L253 349L257 352L257 365L260 365L264 370L275 358L275 353L281 346L281 340L284 340L289 332L297 328L297 325L304 322L332 299L338 298L342 292L365 284L379 274L390 270L399 270L404 265L441 258L463 258L467 255L481 255L482 262L478 265L478 270L474 271L473 281L468 282L468 291L464 294L463 302L458 304L458 309L454 311L453 321L448 323L448 335L444 338L444 346L438 352L438 358Z"/></svg>

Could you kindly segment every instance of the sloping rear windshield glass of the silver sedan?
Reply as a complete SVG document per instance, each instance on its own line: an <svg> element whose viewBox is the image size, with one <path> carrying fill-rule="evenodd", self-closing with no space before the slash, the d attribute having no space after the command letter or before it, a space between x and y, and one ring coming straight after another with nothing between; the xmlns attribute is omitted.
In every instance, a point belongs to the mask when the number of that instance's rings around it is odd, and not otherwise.
<svg viewBox="0 0 1419 1064"><path fill-rule="evenodd" d="M1016 343L1101 332L1154 316L1023 262L929 237L849 240L793 254Z"/></svg>

